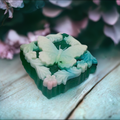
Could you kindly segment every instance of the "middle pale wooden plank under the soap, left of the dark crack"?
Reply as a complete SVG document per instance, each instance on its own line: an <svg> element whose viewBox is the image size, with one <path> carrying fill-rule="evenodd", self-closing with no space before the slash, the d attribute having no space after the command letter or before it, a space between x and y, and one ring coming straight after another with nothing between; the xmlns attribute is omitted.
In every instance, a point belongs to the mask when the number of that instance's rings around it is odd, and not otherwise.
<svg viewBox="0 0 120 120"><path fill-rule="evenodd" d="M65 119L84 98L84 96L111 70L120 63L120 50L100 49L94 56L98 59L98 68L94 75L81 85L68 92L47 99L37 89L29 77L18 77L17 80L6 78L11 85L4 85L0 93L0 118L2 119ZM16 60L16 63L19 60ZM8 64L8 63L7 63ZM15 65L13 65L16 67ZM11 66L12 68L12 66ZM17 69L17 68L14 68ZM21 67L19 71L24 71ZM14 72L12 73L14 75ZM17 73L19 74L19 72ZM20 73L21 74L21 73ZM24 73L25 74L25 73ZM18 75L20 76L20 75Z"/></svg>

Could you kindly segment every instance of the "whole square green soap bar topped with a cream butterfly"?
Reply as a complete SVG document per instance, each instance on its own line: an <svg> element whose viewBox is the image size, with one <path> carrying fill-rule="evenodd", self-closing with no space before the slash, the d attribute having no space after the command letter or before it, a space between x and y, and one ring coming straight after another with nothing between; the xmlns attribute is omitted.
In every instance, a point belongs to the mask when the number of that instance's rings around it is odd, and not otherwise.
<svg viewBox="0 0 120 120"><path fill-rule="evenodd" d="M21 45L20 58L48 99L82 83L97 66L87 46L65 33L39 36L37 41Z"/></svg>

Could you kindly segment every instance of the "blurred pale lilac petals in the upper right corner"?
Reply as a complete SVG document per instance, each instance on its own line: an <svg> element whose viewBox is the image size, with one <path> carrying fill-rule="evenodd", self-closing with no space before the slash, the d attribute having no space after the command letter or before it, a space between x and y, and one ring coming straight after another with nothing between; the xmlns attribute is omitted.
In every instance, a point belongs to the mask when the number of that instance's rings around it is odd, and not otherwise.
<svg viewBox="0 0 120 120"><path fill-rule="evenodd" d="M118 44L120 41L120 14L118 13L117 8L114 6L108 11L101 11L99 7L100 0L93 0L93 2L98 5L98 7L89 11L89 19L96 22L102 17L106 23L104 26L104 34L107 37L110 37L115 44ZM120 0L116 0L116 3L117 5L120 5Z"/></svg>

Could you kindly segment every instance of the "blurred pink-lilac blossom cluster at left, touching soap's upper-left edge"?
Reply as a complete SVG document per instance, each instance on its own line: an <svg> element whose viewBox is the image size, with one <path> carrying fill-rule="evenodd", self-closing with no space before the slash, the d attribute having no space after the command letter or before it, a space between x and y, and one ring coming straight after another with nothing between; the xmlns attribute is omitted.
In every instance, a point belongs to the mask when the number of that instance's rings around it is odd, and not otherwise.
<svg viewBox="0 0 120 120"><path fill-rule="evenodd" d="M37 40L39 35L47 35L50 33L49 24L44 24L43 30L28 32L27 36L19 35L15 30L9 30L5 42L0 41L0 58L12 59L14 54L20 52L20 46Z"/></svg>

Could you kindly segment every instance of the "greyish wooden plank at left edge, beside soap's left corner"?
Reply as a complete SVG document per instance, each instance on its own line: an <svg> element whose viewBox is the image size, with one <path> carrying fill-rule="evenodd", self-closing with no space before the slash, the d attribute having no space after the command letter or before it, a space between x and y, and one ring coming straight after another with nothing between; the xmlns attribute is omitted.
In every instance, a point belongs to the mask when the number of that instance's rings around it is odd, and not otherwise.
<svg viewBox="0 0 120 120"><path fill-rule="evenodd" d="M13 60L0 59L0 91L24 75L19 55Z"/></svg>

